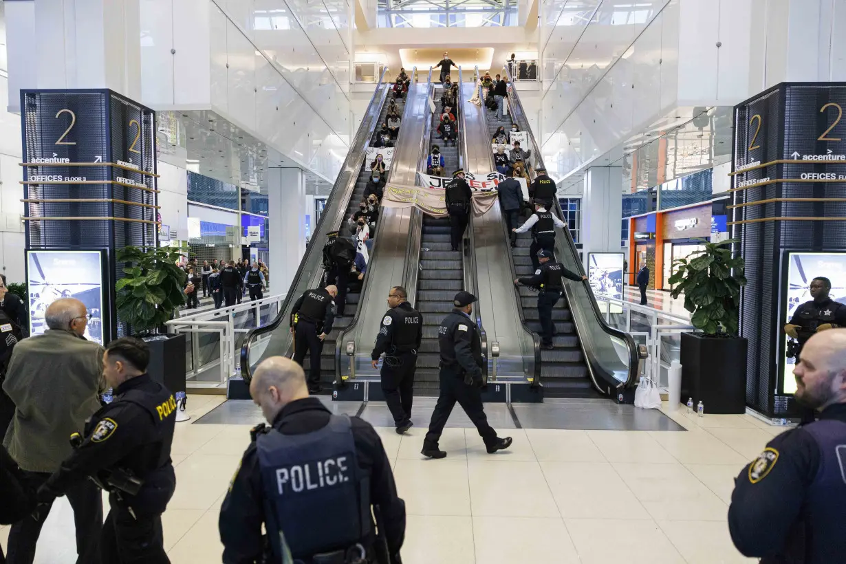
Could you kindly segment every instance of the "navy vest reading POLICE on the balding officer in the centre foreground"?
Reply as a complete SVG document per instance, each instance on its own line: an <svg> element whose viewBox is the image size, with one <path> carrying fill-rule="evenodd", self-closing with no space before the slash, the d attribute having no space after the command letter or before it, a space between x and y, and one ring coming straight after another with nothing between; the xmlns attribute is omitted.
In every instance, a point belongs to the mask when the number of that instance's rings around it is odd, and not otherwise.
<svg viewBox="0 0 846 564"><path fill-rule="evenodd" d="M368 477L360 471L349 417L332 415L320 430L255 439L274 561L290 551L311 561L346 550L370 533ZM284 543L284 548L283 548Z"/></svg>

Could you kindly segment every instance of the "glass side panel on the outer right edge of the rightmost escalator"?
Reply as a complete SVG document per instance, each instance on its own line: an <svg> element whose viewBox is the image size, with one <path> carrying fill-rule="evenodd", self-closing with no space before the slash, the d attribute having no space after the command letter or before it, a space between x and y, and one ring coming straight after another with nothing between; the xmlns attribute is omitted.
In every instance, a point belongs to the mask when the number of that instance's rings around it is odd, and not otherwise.
<svg viewBox="0 0 846 564"><path fill-rule="evenodd" d="M526 118L519 101L517 90L512 87L508 65L504 67L508 74L508 111L514 123L525 131L530 140L532 155L536 167L543 167L540 146L531 133L529 120ZM531 171L534 175L535 172ZM561 205L555 199L554 213L563 217ZM569 271L584 275L585 269L579 259L579 250L573 242L569 229L559 230L555 238L555 255ZM596 304L591 285L587 281L564 281L564 293L579 333L580 346L585 354L588 372L594 386L603 393L612 395L617 387L634 386L638 376L638 356L634 339L625 331L608 326Z"/></svg>

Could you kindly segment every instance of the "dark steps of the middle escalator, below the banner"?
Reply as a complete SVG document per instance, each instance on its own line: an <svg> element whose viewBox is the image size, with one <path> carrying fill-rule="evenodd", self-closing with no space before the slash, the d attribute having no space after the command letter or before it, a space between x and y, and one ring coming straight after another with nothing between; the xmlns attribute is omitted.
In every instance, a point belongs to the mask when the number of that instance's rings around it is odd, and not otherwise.
<svg viewBox="0 0 846 564"><path fill-rule="evenodd" d="M434 90L441 90L440 85ZM439 96L435 96L437 99ZM459 109L456 108L456 112ZM431 114L430 145L439 145L444 158L444 174L452 176L459 168L459 149L446 146L435 138L440 113ZM463 132L459 130L459 135ZM415 394L434 395L438 392L438 364L440 353L437 344L437 327L453 310L453 297L464 289L464 261L461 251L453 251L449 240L449 218L423 216L420 237L420 269L417 282L415 309L423 314L423 341L417 356Z"/></svg>

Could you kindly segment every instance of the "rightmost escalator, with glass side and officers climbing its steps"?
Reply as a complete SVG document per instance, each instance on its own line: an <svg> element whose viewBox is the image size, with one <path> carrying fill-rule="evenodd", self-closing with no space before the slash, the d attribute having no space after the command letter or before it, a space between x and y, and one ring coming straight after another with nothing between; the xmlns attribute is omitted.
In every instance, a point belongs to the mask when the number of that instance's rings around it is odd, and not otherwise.
<svg viewBox="0 0 846 564"><path fill-rule="evenodd" d="M507 68L505 73L508 75ZM529 136L530 160L536 167L543 166L540 147L531 133L513 82L508 84L508 109L505 123L489 120L490 135L499 125L510 129L513 120L519 131L525 131ZM530 174L534 178L534 172ZM559 218L563 217L558 200L552 212ZM557 228L556 235L556 260L569 271L584 273L569 229ZM503 227L503 238L507 237ZM518 236L517 246L512 252L514 277L532 274L530 244L530 233ZM536 333L541 331L537 294L527 287L519 287L519 302L525 326ZM536 375L543 382L545 397L596 397L598 392L602 396L617 398L624 388L634 386L639 368L634 340L628 333L607 325L588 282L564 281L564 293L553 309L552 321L556 329L554 348L541 350L540 364L536 366Z"/></svg>

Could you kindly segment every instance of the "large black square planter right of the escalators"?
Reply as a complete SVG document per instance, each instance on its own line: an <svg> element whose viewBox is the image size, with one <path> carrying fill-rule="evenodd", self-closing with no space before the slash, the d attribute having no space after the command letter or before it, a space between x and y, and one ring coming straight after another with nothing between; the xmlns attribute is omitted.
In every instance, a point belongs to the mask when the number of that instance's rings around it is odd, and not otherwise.
<svg viewBox="0 0 846 564"><path fill-rule="evenodd" d="M745 413L747 346L744 337L682 333L681 401L702 402L706 415Z"/></svg>

